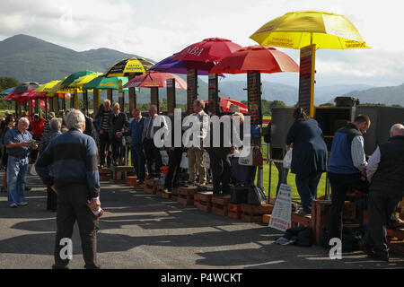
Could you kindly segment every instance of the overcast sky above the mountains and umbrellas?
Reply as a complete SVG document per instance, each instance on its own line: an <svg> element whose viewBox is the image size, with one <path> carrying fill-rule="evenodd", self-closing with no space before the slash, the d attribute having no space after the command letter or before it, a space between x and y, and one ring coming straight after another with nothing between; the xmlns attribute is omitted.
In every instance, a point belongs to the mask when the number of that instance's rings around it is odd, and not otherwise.
<svg viewBox="0 0 404 287"><path fill-rule="evenodd" d="M287 12L321 10L347 17L371 49L319 49L318 85L400 85L404 83L401 6L400 0L1 0L0 40L27 34L76 51L114 48L159 61L212 37L256 45L249 37L266 22ZM282 50L299 63L298 50ZM297 74L263 78L298 85ZM227 79L244 80L245 75Z"/></svg>

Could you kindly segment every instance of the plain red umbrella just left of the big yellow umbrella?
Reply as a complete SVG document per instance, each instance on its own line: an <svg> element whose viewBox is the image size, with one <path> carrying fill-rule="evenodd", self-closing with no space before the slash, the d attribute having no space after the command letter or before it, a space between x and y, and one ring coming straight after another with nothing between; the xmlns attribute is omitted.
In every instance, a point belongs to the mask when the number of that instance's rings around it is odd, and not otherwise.
<svg viewBox="0 0 404 287"><path fill-rule="evenodd" d="M224 57L210 73L244 74L248 71L261 73L299 72L299 65L284 52L267 46L250 46Z"/></svg>

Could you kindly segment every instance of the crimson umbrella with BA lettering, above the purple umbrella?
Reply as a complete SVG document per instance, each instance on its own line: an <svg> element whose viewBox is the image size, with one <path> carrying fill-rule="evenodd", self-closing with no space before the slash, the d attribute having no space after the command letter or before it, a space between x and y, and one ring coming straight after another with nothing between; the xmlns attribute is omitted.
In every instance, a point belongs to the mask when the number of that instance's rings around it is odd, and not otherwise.
<svg viewBox="0 0 404 287"><path fill-rule="evenodd" d="M197 62L219 62L242 46L230 39L209 38L184 48L172 57L175 60Z"/></svg>

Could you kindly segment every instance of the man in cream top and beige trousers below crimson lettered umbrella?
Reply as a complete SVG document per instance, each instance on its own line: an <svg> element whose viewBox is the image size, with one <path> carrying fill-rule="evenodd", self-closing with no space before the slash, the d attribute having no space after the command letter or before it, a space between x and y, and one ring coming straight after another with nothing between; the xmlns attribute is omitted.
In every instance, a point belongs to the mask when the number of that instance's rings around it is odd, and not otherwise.
<svg viewBox="0 0 404 287"><path fill-rule="evenodd" d="M206 169L203 166L203 141L207 135L207 128L209 126L209 117L207 116L205 109L204 100L194 100L193 105L194 113L191 115L193 117L198 117L200 122L200 135L198 135L198 146L188 147L188 161L189 161L189 183L188 186L192 187L196 184L196 171L199 174L199 185L206 185ZM193 139L191 139L193 141ZM187 144L186 144L187 145Z"/></svg>

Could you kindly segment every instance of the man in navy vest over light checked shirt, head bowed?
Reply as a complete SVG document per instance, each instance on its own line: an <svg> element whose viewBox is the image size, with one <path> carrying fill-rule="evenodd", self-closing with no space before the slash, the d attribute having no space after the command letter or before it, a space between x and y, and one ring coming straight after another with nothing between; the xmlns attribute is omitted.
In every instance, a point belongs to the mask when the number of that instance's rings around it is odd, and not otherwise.
<svg viewBox="0 0 404 287"><path fill-rule="evenodd" d="M341 217L348 189L355 187L367 192L369 184L362 180L361 172L367 166L363 135L370 125L368 116L359 115L353 123L340 128L334 135L328 167L332 199L329 240L342 238Z"/></svg>

